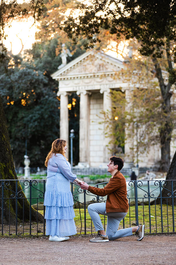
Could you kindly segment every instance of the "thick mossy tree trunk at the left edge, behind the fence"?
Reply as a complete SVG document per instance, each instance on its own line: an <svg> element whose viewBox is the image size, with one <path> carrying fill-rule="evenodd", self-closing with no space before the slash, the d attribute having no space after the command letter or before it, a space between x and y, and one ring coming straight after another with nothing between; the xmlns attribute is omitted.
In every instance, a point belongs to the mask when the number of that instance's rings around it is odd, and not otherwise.
<svg viewBox="0 0 176 265"><path fill-rule="evenodd" d="M0 218L2 217L2 191L4 191L3 198L12 198L11 194L12 191L16 191L16 181L10 181L10 185L4 183L2 180L18 180L14 164L13 158L11 153L10 147L10 139L8 134L7 122L6 117L2 105L2 100L0 97ZM3 185L5 184L5 185ZM4 186L4 188L3 188ZM17 191L21 191L22 187L17 182ZM13 193L14 194L14 193ZM19 193L18 193L19 194ZM23 220L23 200L24 200L24 220L29 220L29 210L30 204L26 199L25 194L23 191L20 192L21 198L25 199L18 199L17 207L18 207L18 221ZM4 199L4 207L3 207L3 220L4 224L9 223L9 209L10 209L10 223L15 223L15 215L16 215L16 200L15 199ZM37 211L32 207L31 209L31 219L33 221L37 220ZM43 222L43 216L38 213L38 221Z"/></svg>

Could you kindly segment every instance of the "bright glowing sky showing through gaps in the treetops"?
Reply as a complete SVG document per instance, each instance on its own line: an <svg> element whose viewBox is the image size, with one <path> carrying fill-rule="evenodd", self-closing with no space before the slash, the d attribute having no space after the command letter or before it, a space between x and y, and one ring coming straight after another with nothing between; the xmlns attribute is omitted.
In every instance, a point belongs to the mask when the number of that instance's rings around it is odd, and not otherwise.
<svg viewBox="0 0 176 265"><path fill-rule="evenodd" d="M90 4L89 0L79 0L85 4ZM24 0L17 0L18 3L25 2ZM48 10L48 13L52 12L53 10ZM80 10L75 10L73 12L73 17L77 17ZM102 13L102 11L100 11ZM70 9L65 11L65 16L70 15ZM11 25L9 27L9 25ZM11 21L8 22L8 26L4 28L5 34L7 38L4 39L3 43L5 47L12 52L12 54L18 54L25 49L31 49L32 44L35 43L35 33L39 31L38 26L39 22L34 23L34 19L32 16L27 18L13 18ZM53 36L54 37L54 34ZM110 40L107 43L107 47L103 49L103 51L109 54L112 57L124 60L124 57L128 55L129 52L129 41L121 41L119 44L114 40ZM14 68L14 66L12 67ZM43 73L45 74L45 72ZM73 100L76 101L76 100Z"/></svg>

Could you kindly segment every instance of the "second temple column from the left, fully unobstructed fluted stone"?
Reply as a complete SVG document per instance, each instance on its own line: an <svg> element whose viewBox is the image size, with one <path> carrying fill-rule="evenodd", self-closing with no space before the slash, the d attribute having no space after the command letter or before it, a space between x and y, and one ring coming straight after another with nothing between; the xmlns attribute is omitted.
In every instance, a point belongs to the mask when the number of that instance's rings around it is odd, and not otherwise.
<svg viewBox="0 0 176 265"><path fill-rule="evenodd" d="M89 95L88 91L77 91L79 104L79 166L89 166Z"/></svg>

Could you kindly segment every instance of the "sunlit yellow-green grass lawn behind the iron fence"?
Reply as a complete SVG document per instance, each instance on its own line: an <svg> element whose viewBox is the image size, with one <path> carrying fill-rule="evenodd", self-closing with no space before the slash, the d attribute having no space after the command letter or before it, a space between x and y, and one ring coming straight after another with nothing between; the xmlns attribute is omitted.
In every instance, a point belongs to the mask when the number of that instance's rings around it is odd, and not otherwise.
<svg viewBox="0 0 176 265"><path fill-rule="evenodd" d="M173 221L172 221L172 206L163 205L163 232L173 232ZM75 211L75 224L77 227L77 232L80 233L81 229L81 220L82 220L82 231L84 233L84 209L80 209L81 219L79 209L74 209ZM43 211L39 211L43 214ZM101 221L106 228L107 217L100 215ZM149 207L146 206L138 206L138 218L139 224L145 224L145 233L161 233L162 232L162 222L161 222L161 209L160 205L150 206L150 218L149 218ZM175 231L176 231L176 206L174 206L174 220L175 220ZM150 222L151 222L151 231L150 231ZM124 219L124 228L128 228L131 226L135 226L135 207L131 206L128 211L125 219ZM119 229L123 228L123 221L121 221ZM91 218L86 209L86 231L87 233L91 233ZM95 232L94 225L92 223L92 232Z"/></svg>

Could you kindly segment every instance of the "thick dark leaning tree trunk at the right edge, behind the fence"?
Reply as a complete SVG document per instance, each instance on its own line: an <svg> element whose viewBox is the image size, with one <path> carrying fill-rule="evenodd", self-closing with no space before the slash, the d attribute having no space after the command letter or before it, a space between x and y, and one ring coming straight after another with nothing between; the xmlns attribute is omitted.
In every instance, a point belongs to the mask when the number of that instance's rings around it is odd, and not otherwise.
<svg viewBox="0 0 176 265"><path fill-rule="evenodd" d="M172 162L170 164L169 170L167 172L166 175L166 180L165 183L166 185L162 185L163 186L163 190L162 190L162 203L163 204L169 204L172 205L172 197L170 198L170 196L172 195L174 197L174 205L176 205L176 151L175 154L173 156ZM172 183L171 181L168 180L173 180L173 191L172 191ZM163 182L163 184L165 184ZM164 198L166 197L166 198ZM158 198L156 199L156 204L160 204L161 199L160 199L160 195L158 196ZM155 201L152 201L150 204L153 205L155 203Z"/></svg>

